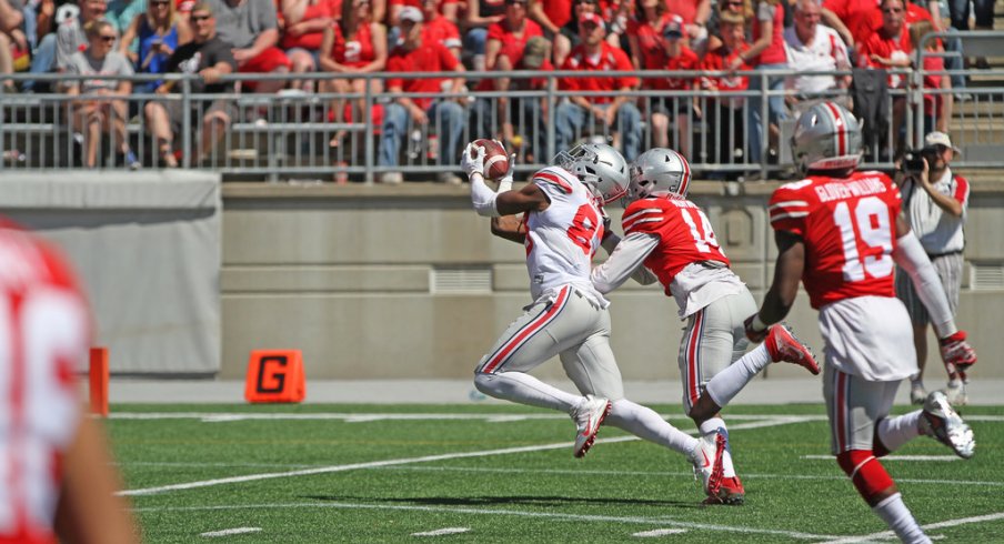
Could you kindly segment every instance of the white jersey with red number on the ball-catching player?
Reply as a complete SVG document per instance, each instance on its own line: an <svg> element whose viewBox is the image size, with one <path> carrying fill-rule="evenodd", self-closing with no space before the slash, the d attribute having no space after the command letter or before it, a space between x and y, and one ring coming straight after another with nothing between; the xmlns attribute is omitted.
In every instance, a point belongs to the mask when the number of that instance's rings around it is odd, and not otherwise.
<svg viewBox="0 0 1004 544"><path fill-rule="evenodd" d="M593 255L603 236L603 220L590 190L560 167L546 167L533 174L532 183L543 191L551 205L526 214L526 270L533 300L553 296L571 284L606 308L610 303L590 280Z"/></svg>

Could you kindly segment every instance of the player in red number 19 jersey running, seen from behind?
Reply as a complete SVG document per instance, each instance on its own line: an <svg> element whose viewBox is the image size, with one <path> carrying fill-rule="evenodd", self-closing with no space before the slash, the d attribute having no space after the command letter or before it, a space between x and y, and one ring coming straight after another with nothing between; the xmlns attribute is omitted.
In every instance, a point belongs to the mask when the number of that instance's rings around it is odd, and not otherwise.
<svg viewBox="0 0 1004 544"><path fill-rule="evenodd" d="M792 155L809 177L771 197L777 263L760 312L746 320L746 334L763 338L767 325L783 319L802 281L826 342L823 393L836 462L903 542L931 542L878 457L921 434L963 459L976 444L940 391L927 395L923 410L888 415L900 382L917 372L910 316L893 288L894 263L927 306L945 363L967 369L976 354L900 214L900 190L884 173L855 171L861 142L857 121L840 104L824 102L799 118Z"/></svg>

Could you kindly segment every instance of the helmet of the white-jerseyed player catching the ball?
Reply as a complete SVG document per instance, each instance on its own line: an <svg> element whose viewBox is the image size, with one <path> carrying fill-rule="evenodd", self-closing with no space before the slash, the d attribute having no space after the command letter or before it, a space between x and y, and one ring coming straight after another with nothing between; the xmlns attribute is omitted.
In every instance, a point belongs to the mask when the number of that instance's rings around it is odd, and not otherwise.
<svg viewBox="0 0 1004 544"><path fill-rule="evenodd" d="M583 143L551 161L575 177L593 195L609 204L628 193L628 161L605 143Z"/></svg>

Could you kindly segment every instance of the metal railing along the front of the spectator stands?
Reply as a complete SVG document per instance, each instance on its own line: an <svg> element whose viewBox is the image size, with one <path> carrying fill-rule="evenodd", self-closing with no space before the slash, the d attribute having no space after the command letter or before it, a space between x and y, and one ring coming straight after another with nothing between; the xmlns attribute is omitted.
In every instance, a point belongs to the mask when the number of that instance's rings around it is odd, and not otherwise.
<svg viewBox="0 0 1004 544"><path fill-rule="evenodd" d="M761 119L769 119L769 98L783 95L790 103L805 103L832 98L825 95L796 95L792 90L772 91L767 78L832 74L850 72L799 72L781 70L772 72L750 71L735 73L706 71L652 71L604 72L604 77L637 77L645 79L693 79L719 77L761 78L762 90L743 91L652 91L624 92L570 92L558 90L560 78L579 78L583 72L469 72L464 75L473 87L481 78L508 77L513 82L538 80L544 84L535 90L463 91L388 94L372 93L370 85L362 93L293 92L255 94L228 92L199 94L192 92L194 77L182 74L135 75L133 82L151 80L174 81L173 93L133 93L124 97L68 95L60 92L44 94L3 94L0 90L0 170L3 169L61 169L61 168L130 168L124 150L128 148L141 168L163 168L172 162L162 153L164 148L182 168L214 169L224 175L250 177L278 181L282 179L320 179L344 181L355 179L373 181L385 172L402 173L409 178L428 179L432 174L459 172L462 145L476 138L498 138L504 124L511 123L506 144L515 148L522 159L521 171L532 171L550 161L559 147L598 140L620 147L630 154L664 143L683 152L699 175L712 179L743 179L752 173L766 178L791 167L785 148L791 122L780 123L779 131L767 123L751 127L749 103L759 99ZM897 75L917 77L921 72L894 72ZM980 71L987 74L987 71ZM362 79L388 80L393 78L450 79L448 73L360 74ZM585 74L595 75L595 74ZM1004 77L1004 74L1000 74ZM225 81L238 89L247 82L263 79L295 80L298 87L321 88L324 80L335 74L304 75L230 75ZM66 75L13 74L10 79L46 80L52 85L66 84L74 78ZM76 78L82 80L84 78ZM96 79L87 77L86 79ZM122 79L122 78L110 78ZM519 85L513 85L513 88ZM522 85L525 88L526 85ZM840 94L843 91L836 91ZM887 111L896 101L921 92L918 89L890 89ZM923 91L927 92L927 91ZM997 104L1004 89L968 89L970 108L980 110L984 104ZM429 115L422 124L406 112L400 124L388 123L389 115L402 115L395 100L400 97L413 100L432 100L441 104L431 110L440 114ZM629 97L620 113L626 122L608 124L593 112L576 111L571 98L575 95ZM89 104L90 103L90 104ZM111 105L116 103L117 105ZM96 105L97 104L97 105ZM152 104L152 105L151 105ZM90 109L88 107L90 105ZM634 111L629 111L631 109ZM97 119L93 110L100 110ZM154 141L158 122L152 110L168 113L170 141ZM1000 125L1004 113L991 108L980 123ZM902 125L890 122L887 134L876 142L865 155L866 165L888 168L893 148L917 133L923 111L906 108ZM953 119L952 132L965 131L970 117ZM210 122L212 121L212 122ZM451 124L452 123L452 124ZM962 124L962 125L961 125ZM455 147L446 135L451 133ZM762 142L759 155L750 149L752 130L759 130ZM662 132L664 131L664 132ZM901 134L903 131L903 134ZM660 133L662 132L662 133ZM97 134L97 135L96 135ZM398 140L394 153L388 151L388 141ZM202 142L218 140L214 145ZM773 140L773 141L772 141ZM204 151L200 151L203 149ZM88 163L88 150L97 148L97 162ZM772 152L775 151L775 152ZM965 159L961 167L1000 167L1000 163Z"/></svg>

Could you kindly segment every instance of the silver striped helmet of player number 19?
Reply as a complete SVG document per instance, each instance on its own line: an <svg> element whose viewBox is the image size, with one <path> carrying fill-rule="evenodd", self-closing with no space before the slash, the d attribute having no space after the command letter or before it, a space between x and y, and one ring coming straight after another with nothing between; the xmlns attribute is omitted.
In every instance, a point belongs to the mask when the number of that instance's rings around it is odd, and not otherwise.
<svg viewBox="0 0 1004 544"><path fill-rule="evenodd" d="M857 168L861 148L861 125L836 102L819 103L806 110L792 134L792 157L802 173Z"/></svg>

